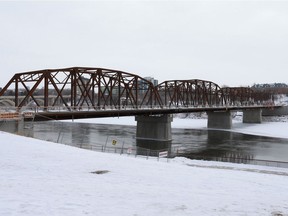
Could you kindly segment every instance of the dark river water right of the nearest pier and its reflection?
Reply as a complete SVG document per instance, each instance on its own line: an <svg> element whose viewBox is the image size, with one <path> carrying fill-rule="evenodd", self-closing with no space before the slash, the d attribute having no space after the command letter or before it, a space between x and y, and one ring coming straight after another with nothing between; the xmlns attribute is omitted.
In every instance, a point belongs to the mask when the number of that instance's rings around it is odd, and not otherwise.
<svg viewBox="0 0 288 216"><path fill-rule="evenodd" d="M173 130L172 148L191 159L250 163L250 160L288 162L288 140L221 130Z"/></svg>

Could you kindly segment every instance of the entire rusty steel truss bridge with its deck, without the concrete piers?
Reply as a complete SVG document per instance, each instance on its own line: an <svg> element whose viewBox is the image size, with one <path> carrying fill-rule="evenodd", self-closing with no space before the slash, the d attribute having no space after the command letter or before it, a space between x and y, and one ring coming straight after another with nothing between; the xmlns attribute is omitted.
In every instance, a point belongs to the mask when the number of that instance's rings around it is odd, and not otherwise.
<svg viewBox="0 0 288 216"><path fill-rule="evenodd" d="M271 98L267 92L221 88L206 80L154 86L132 73L71 67L15 74L0 91L0 106L47 120L263 108L273 106Z"/></svg>

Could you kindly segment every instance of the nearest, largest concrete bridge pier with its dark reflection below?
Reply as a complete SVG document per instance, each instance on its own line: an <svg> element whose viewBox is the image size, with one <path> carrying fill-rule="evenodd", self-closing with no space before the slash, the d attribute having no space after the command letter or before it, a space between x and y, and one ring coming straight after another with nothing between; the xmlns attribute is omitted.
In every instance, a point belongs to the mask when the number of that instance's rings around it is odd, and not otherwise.
<svg viewBox="0 0 288 216"><path fill-rule="evenodd" d="M170 149L172 115L136 116L135 120L137 154L146 155L149 149L149 155L157 156L158 151Z"/></svg>

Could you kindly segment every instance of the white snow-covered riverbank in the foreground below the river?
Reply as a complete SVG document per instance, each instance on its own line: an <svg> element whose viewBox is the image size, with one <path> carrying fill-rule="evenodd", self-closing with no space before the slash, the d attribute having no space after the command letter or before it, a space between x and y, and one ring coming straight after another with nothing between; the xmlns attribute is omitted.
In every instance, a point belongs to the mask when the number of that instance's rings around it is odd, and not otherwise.
<svg viewBox="0 0 288 216"><path fill-rule="evenodd" d="M146 160L4 132L0 140L1 216L288 215L288 169Z"/></svg>

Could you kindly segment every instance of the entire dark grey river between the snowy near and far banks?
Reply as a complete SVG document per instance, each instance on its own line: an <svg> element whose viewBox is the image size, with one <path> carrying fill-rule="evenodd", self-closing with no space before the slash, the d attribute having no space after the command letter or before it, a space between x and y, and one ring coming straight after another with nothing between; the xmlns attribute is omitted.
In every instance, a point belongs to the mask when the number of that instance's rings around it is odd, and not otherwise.
<svg viewBox="0 0 288 216"><path fill-rule="evenodd" d="M170 155L178 154L178 156L191 159L253 162L288 167L288 139L221 130L172 128L171 142L142 141L139 143L135 139L135 126L45 121L25 122L16 129L11 128L9 129L7 125L0 125L1 130L98 151L116 152L115 149L118 148L122 152L133 153L132 151L136 149L138 154L146 155L148 153L145 151L141 153L141 150L163 151L169 149ZM274 161L274 164L271 161Z"/></svg>

